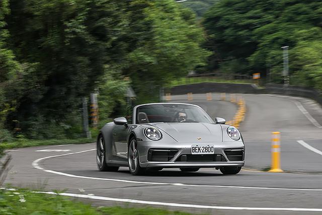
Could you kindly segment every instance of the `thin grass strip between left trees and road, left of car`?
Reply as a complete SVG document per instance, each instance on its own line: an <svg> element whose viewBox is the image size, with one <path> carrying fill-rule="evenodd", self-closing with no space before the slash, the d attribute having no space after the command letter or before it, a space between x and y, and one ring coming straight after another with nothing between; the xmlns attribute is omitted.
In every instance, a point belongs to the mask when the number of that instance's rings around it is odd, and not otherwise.
<svg viewBox="0 0 322 215"><path fill-rule="evenodd" d="M24 148L24 147L37 147L46 145L64 145L64 144L86 144L89 142L95 142L96 136L93 138L77 138L77 139L46 139L46 140L34 140L34 139L18 139L12 142L2 142L0 145L3 149Z"/></svg>

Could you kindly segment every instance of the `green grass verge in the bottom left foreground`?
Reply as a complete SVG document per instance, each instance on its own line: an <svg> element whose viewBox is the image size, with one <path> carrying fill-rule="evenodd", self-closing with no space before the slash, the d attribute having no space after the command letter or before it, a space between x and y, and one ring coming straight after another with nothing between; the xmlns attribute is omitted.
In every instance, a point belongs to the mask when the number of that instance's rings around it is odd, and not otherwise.
<svg viewBox="0 0 322 215"><path fill-rule="evenodd" d="M0 190L0 214L17 215L125 215L125 214L176 214L188 215L191 213L170 211L153 207L94 207L77 199L71 200L60 195L35 193L30 190Z"/></svg>

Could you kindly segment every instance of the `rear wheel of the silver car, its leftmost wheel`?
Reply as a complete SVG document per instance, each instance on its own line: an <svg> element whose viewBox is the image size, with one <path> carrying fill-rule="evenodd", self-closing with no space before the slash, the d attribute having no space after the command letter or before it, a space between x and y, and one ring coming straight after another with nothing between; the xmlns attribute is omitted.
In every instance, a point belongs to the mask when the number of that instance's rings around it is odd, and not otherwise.
<svg viewBox="0 0 322 215"><path fill-rule="evenodd" d="M109 167L106 163L106 152L105 152L105 144L104 144L104 137L102 134L99 135L96 144L96 164L97 168L101 172L116 172L118 171L119 167Z"/></svg>

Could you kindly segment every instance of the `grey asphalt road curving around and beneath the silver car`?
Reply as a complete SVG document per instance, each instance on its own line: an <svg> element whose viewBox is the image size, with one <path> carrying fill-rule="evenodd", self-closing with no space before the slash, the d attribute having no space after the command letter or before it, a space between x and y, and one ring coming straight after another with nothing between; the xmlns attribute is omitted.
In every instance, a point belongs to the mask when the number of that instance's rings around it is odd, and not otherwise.
<svg viewBox="0 0 322 215"><path fill-rule="evenodd" d="M230 120L236 111L235 105L219 101L216 96L213 101L206 101L204 95L194 95L192 101L184 101L186 96L173 97L173 100L201 105L212 117ZM65 189L67 194L84 194L92 198L96 205L151 204L213 214L321 214L319 109L315 103L296 98L243 97L247 115L240 131L246 141L246 167L261 169L270 165L270 133L280 131L282 168L291 173L243 170L235 176L223 176L214 169L201 169L196 173L165 169L145 176L132 176L127 168L118 172L99 172L95 144L86 144L9 152L13 155L13 168L6 182L45 190ZM305 111L301 111L296 101L318 124L314 125L304 115ZM307 145L300 145L298 140L313 147L315 152Z"/></svg>

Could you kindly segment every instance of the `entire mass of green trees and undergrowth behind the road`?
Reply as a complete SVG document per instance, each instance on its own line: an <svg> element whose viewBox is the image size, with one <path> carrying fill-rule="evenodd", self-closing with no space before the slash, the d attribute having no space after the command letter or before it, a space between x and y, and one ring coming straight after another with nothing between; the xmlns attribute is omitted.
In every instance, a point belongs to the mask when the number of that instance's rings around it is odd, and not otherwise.
<svg viewBox="0 0 322 215"><path fill-rule="evenodd" d="M281 84L282 46L290 84L322 92L321 8L313 0L2 0L0 145L92 141L83 140L82 103L90 110L95 92L93 138L131 105L157 102L164 87L253 83L188 74L261 73ZM129 87L135 98L126 98Z"/></svg>

